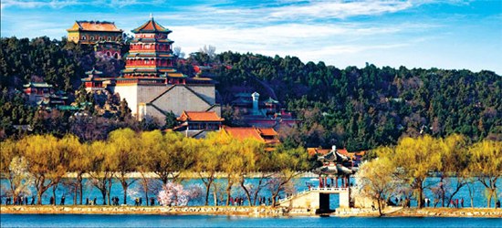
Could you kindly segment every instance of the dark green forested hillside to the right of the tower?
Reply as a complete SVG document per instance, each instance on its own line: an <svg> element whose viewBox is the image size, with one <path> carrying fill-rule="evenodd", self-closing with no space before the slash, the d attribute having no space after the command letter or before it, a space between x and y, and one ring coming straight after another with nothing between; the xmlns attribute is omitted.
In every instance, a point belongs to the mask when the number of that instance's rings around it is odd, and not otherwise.
<svg viewBox="0 0 502 228"><path fill-rule="evenodd" d="M339 69L298 57L234 52L210 60L195 53L187 62L220 66L211 73L224 105L238 90L256 90L302 119L298 129L281 132L292 146L366 150L424 133L502 140L502 78L491 71L371 64Z"/></svg>

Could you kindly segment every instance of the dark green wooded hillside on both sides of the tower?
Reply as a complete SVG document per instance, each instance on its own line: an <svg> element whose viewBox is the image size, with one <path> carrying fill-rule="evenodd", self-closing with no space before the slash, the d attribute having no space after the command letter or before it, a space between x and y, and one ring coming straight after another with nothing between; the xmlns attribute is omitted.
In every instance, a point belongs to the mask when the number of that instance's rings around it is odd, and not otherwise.
<svg viewBox="0 0 502 228"><path fill-rule="evenodd" d="M13 37L2 38L1 43L4 137L14 134L5 130L9 126L35 119L35 109L23 104L15 88L22 89L30 80L45 80L72 95L79 78L92 66L110 76L117 76L123 67L121 60L96 58L89 47L66 40ZM230 51L217 55L198 52L181 60L178 68L189 75L194 74L193 65L211 66L204 73L218 82L224 106L240 91L256 90L262 98L277 98L283 108L303 120L297 129L281 129L282 140L289 146L334 144L366 150L421 133L434 137L462 133L472 140L502 140L502 78L491 71L396 69L371 64L340 69L323 62L302 63L297 57ZM224 113L225 119L237 115ZM68 115L61 118L65 117Z"/></svg>

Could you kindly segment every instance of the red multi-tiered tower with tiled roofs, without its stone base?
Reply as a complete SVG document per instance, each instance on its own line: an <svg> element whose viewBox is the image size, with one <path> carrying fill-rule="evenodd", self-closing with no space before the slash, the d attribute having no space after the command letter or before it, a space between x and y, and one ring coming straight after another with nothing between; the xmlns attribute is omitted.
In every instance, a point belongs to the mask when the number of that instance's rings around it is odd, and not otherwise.
<svg viewBox="0 0 502 228"><path fill-rule="evenodd" d="M131 41L123 77L117 83L185 84L186 76L173 67L171 30L157 24L153 17L131 31Z"/></svg>

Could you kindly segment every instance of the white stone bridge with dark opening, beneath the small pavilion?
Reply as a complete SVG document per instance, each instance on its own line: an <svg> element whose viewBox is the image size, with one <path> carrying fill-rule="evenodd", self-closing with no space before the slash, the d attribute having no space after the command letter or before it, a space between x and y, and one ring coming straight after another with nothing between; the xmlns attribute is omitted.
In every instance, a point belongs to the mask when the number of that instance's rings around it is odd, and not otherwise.
<svg viewBox="0 0 502 228"><path fill-rule="evenodd" d="M310 212L325 213L329 210L329 194L339 194L340 208L350 207L349 188L310 188L277 202L290 209L308 209Z"/></svg>

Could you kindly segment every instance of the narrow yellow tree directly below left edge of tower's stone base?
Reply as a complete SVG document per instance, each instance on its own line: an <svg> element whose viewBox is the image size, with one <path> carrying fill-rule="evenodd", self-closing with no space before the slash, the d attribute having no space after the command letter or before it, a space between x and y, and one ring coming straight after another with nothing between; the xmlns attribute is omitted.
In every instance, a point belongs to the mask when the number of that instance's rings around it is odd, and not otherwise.
<svg viewBox="0 0 502 228"><path fill-rule="evenodd" d="M136 179L129 178L131 171L136 171L139 161L139 145L136 132L131 129L121 129L111 131L109 137L109 149L112 170L115 177L120 181L123 189L123 202L127 203L127 189Z"/></svg>

